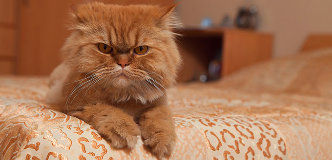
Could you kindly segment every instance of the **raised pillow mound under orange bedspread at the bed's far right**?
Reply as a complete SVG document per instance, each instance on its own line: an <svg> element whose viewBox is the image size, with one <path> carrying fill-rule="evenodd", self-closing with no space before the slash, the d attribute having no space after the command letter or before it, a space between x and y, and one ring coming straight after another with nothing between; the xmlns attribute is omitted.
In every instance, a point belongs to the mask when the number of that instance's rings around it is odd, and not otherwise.
<svg viewBox="0 0 332 160"><path fill-rule="evenodd" d="M332 48L276 58L223 78L224 88L332 97Z"/></svg>

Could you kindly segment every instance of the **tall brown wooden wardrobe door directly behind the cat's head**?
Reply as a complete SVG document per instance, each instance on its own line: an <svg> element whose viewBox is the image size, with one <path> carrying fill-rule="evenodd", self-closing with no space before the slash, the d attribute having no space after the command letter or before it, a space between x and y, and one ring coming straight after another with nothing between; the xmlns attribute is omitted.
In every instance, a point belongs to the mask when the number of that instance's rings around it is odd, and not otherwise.
<svg viewBox="0 0 332 160"><path fill-rule="evenodd" d="M69 36L65 27L73 3L92 0L20 0L18 4L18 74L46 75L61 62L60 49ZM94 0L93 0L94 1ZM171 5L172 0L100 0L117 4Z"/></svg>

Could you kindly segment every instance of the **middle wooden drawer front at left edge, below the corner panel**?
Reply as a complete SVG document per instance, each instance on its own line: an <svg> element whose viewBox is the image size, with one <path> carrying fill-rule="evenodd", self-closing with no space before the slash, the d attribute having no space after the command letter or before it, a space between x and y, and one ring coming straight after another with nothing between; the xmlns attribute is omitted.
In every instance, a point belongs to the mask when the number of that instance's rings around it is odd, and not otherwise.
<svg viewBox="0 0 332 160"><path fill-rule="evenodd" d="M0 27L0 56L14 56L15 30Z"/></svg>

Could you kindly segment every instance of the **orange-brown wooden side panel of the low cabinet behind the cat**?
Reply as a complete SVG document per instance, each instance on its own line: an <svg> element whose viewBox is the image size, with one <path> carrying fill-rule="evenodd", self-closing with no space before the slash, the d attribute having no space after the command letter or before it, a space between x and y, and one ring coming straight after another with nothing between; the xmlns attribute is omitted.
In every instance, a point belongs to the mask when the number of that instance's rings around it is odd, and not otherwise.
<svg viewBox="0 0 332 160"><path fill-rule="evenodd" d="M245 30L225 30L222 75L270 59L272 36Z"/></svg>

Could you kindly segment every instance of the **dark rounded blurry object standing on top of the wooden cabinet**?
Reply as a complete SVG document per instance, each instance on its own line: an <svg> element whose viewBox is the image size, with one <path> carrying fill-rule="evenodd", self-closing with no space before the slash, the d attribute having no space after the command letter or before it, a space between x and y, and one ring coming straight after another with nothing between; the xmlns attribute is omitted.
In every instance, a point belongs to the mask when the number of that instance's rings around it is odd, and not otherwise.
<svg viewBox="0 0 332 160"><path fill-rule="evenodd" d="M249 8L240 8L235 25L244 29L255 29L258 25L258 15L256 6L252 5Z"/></svg>

